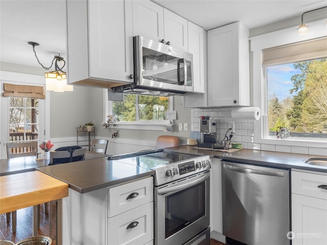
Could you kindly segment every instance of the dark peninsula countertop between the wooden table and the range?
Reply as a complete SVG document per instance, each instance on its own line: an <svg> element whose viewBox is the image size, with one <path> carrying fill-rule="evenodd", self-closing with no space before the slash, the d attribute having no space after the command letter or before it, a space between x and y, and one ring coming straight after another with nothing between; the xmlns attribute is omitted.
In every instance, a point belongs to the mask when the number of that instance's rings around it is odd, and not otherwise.
<svg viewBox="0 0 327 245"><path fill-rule="evenodd" d="M151 176L153 170L103 158L38 167L37 170L66 182L80 193Z"/></svg>

